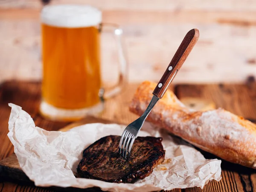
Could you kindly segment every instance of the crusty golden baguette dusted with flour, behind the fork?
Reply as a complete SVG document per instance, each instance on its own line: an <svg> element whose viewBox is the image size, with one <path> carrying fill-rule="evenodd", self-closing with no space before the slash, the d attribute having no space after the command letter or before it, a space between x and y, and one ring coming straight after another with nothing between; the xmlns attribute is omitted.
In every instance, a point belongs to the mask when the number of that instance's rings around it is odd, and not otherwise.
<svg viewBox="0 0 256 192"><path fill-rule="evenodd" d="M130 111L142 115L156 83L143 82L130 104ZM147 121L226 161L256 169L256 124L222 108L195 111L185 107L167 90Z"/></svg>

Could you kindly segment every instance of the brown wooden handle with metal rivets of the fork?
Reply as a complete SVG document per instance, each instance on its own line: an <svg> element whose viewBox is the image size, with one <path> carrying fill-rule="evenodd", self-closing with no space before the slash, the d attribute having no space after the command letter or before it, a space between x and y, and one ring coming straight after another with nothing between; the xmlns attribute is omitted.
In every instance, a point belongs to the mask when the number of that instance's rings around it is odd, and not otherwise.
<svg viewBox="0 0 256 192"><path fill-rule="evenodd" d="M175 55L173 56L172 61L158 82L157 87L154 89L153 95L157 96L159 99L163 97L164 93L172 82L172 79L180 70L180 67L186 60L195 43L198 41L198 38L198 29L192 29L186 34Z"/></svg>

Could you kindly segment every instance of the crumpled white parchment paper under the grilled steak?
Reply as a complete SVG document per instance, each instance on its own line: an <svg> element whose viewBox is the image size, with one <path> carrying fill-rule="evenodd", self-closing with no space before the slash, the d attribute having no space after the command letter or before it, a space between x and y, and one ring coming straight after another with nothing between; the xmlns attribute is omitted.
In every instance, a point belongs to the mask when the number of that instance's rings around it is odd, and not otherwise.
<svg viewBox="0 0 256 192"><path fill-rule="evenodd" d="M221 179L221 161L205 159L195 148L165 130L145 123L139 136L163 137L165 161L152 174L135 184L116 184L76 178L76 168L82 151L108 135L121 135L125 126L118 124L85 124L67 132L47 131L36 127L28 113L20 106L9 104L8 137L15 148L20 167L36 186L87 188L98 186L103 191L149 192L198 186Z"/></svg>

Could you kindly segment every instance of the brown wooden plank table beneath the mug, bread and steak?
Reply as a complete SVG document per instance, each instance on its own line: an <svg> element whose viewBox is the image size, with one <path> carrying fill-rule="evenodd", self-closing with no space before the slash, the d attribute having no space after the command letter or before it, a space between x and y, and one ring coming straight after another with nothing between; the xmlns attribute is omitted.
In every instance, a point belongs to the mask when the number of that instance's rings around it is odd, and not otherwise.
<svg viewBox="0 0 256 192"><path fill-rule="evenodd" d="M0 159L14 152L13 146L7 137L8 119L10 114L9 102L20 105L28 112L35 124L46 130L58 130L70 122L54 122L43 119L38 114L41 95L40 82L5 82L0 85ZM131 100L137 85L128 85L127 89L105 102L105 110L99 116L104 119L118 120L123 124L135 120L137 116L128 111L128 103ZM248 82L246 85L177 85L172 88L178 98L194 96L210 99L217 107L223 107L246 119L256 122L256 83ZM206 158L215 156L202 152ZM203 190L200 188L175 189L172 192L253 192L256 191L256 171L236 164L222 161L221 181L210 181ZM35 187L22 183L14 183L0 178L0 192L50 192L56 189ZM87 191L87 190L84 190Z"/></svg>

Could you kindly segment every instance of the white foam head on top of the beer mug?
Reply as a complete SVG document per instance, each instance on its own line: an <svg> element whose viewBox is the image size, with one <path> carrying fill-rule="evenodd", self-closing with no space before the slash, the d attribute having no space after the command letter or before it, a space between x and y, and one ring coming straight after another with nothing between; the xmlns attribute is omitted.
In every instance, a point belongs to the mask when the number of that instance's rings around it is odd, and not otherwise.
<svg viewBox="0 0 256 192"><path fill-rule="evenodd" d="M102 22L102 13L88 5L44 6L41 11L41 22L56 27L89 27Z"/></svg>

